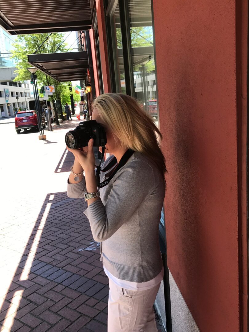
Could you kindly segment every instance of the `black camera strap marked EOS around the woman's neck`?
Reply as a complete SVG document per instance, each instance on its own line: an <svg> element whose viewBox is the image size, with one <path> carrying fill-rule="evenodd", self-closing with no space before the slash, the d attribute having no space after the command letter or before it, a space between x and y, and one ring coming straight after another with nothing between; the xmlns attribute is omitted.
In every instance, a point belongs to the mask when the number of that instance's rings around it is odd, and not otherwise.
<svg viewBox="0 0 249 332"><path fill-rule="evenodd" d="M103 152L105 151L105 148L102 147L102 159L103 159ZM99 188L103 188L105 187L106 185L108 185L108 183L112 180L112 178L114 177L114 175L121 169L121 167L123 167L126 162L128 161L128 159L132 156L132 154L134 153L133 150L131 149L128 149L124 155L122 156L122 158L120 159L120 162L118 163L116 157L114 157L110 163L105 167L103 168L102 170L100 169L100 165L101 165L101 162L99 164L99 166L97 166L97 171L96 171L96 181L97 181L97 187ZM101 161L102 161L101 159ZM109 169L111 169L114 165L116 165L118 163L118 166L116 167L116 169L114 170L114 172L111 174L111 176L109 176L109 178L107 178L105 181L102 181L100 183L100 177L99 177L99 173L100 171L102 172L106 172L108 171Z"/></svg>

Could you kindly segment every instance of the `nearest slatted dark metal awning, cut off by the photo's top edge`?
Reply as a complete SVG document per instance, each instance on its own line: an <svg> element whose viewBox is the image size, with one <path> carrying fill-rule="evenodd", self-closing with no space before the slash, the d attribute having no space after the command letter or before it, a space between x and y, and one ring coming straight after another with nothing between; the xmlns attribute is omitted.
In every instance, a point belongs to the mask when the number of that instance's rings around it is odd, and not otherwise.
<svg viewBox="0 0 249 332"><path fill-rule="evenodd" d="M91 28L94 0L1 0L0 26L11 35Z"/></svg>

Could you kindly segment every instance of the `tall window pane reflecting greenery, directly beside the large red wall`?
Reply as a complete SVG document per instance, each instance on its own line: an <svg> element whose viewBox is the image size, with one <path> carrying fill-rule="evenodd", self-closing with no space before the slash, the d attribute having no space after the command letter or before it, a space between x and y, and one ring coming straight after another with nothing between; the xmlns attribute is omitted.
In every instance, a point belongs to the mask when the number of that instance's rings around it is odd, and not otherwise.
<svg viewBox="0 0 249 332"><path fill-rule="evenodd" d="M135 97L158 125L151 1L128 5Z"/></svg>

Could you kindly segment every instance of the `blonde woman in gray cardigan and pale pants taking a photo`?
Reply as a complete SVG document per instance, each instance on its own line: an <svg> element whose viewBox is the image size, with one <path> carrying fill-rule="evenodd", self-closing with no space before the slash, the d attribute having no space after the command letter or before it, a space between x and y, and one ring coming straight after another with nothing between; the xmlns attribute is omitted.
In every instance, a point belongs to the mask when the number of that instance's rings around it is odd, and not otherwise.
<svg viewBox="0 0 249 332"><path fill-rule="evenodd" d="M97 196L87 200L84 213L94 240L101 242L101 261L109 278L108 331L154 332L153 304L163 279L158 227L166 167L156 136L161 134L137 102L123 94L97 97L92 120L104 126L106 152L112 153L100 181L111 180L98 197L90 139L84 152L68 149L75 156L68 196L84 197L85 190Z"/></svg>

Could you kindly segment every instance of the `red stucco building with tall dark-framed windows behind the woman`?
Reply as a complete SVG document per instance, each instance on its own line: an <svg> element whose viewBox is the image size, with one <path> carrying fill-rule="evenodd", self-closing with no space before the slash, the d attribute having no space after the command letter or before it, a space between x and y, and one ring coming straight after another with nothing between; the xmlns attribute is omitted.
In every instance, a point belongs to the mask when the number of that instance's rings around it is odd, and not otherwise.
<svg viewBox="0 0 249 332"><path fill-rule="evenodd" d="M247 4L96 0L95 8L92 98L126 93L148 112L155 101L163 134L164 325L248 331Z"/></svg>

